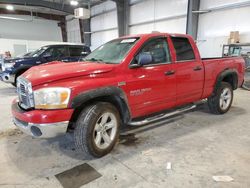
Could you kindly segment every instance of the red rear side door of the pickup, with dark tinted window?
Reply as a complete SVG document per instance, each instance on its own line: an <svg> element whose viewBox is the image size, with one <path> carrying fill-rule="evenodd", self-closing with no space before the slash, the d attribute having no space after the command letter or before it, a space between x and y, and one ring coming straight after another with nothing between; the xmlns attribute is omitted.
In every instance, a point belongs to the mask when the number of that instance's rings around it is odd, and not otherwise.
<svg viewBox="0 0 250 188"><path fill-rule="evenodd" d="M199 55L194 53L195 44L186 37L171 37L171 40L176 54L176 103L197 101L203 91L204 70Z"/></svg>

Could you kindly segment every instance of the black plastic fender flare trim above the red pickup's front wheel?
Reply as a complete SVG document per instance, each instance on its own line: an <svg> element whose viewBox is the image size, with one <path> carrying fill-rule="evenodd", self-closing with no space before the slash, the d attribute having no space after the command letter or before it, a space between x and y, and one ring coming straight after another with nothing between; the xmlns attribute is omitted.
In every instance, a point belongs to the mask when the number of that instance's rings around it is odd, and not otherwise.
<svg viewBox="0 0 250 188"><path fill-rule="evenodd" d="M73 98L70 107L76 109L88 101L101 97L112 97L115 99L118 103L118 110L122 115L123 122L126 123L130 121L131 111L128 105L127 96L121 88L115 86L102 87L82 92Z"/></svg>

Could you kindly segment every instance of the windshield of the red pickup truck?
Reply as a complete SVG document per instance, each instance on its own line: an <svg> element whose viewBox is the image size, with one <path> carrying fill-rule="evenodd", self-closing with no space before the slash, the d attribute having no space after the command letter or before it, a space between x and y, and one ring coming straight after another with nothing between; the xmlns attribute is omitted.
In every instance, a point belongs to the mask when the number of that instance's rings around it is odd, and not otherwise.
<svg viewBox="0 0 250 188"><path fill-rule="evenodd" d="M85 61L118 64L123 60L138 39L139 38L136 37L112 40L94 50L85 58Z"/></svg>

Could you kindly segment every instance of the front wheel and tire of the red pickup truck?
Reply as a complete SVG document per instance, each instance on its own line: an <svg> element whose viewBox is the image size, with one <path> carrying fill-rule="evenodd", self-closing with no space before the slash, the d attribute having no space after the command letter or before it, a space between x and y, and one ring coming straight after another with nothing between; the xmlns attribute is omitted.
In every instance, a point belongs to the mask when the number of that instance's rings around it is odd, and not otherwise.
<svg viewBox="0 0 250 188"><path fill-rule="evenodd" d="M119 112L112 104L98 102L86 107L74 130L77 151L84 152L87 158L108 154L118 140L120 124Z"/></svg>

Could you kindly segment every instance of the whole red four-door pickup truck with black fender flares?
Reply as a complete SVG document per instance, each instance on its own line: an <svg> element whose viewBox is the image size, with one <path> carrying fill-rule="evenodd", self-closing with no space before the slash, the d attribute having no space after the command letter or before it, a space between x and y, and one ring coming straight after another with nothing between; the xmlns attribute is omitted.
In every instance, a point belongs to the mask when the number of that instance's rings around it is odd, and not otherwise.
<svg viewBox="0 0 250 188"><path fill-rule="evenodd" d="M208 49L209 50L209 49ZM141 126L208 99L227 112L244 78L242 58L201 59L192 37L151 33L112 40L84 62L29 69L17 81L13 121L34 137L74 131L77 149L109 153L121 126Z"/></svg>

